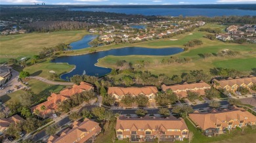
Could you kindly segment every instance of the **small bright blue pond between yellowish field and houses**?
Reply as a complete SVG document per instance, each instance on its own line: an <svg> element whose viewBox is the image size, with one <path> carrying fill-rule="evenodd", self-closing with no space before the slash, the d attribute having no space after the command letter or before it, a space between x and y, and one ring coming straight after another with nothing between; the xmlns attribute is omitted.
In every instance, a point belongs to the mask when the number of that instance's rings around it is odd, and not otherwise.
<svg viewBox="0 0 256 143"><path fill-rule="evenodd" d="M93 39L96 39L96 37L98 37L98 35L85 35L83 39L70 43L70 46L72 46L72 50L89 48L91 47L89 42L91 42Z"/></svg>

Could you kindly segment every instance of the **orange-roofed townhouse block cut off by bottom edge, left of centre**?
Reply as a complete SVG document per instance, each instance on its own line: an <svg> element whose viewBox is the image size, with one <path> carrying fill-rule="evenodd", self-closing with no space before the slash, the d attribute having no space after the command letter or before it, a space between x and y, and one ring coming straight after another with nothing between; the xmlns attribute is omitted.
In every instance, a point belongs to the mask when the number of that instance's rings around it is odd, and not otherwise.
<svg viewBox="0 0 256 143"><path fill-rule="evenodd" d="M60 136L50 136L48 143L83 143L90 139L95 140L96 135L98 135L100 131L101 128L98 126L98 123L85 118L83 122L74 121L72 127L62 131Z"/></svg>

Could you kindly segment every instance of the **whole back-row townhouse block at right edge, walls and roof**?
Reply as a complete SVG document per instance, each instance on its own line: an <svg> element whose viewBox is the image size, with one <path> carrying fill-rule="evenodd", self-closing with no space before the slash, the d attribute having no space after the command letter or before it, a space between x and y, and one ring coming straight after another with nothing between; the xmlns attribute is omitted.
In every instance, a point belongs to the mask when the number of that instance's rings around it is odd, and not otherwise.
<svg viewBox="0 0 256 143"><path fill-rule="evenodd" d="M216 80L214 79L213 82L215 82L216 88L221 88L226 91L236 91L238 87L249 87L253 86L253 84L256 83L256 77L251 76L251 77L246 77L246 78L228 78L228 79L223 79L223 80Z"/></svg>

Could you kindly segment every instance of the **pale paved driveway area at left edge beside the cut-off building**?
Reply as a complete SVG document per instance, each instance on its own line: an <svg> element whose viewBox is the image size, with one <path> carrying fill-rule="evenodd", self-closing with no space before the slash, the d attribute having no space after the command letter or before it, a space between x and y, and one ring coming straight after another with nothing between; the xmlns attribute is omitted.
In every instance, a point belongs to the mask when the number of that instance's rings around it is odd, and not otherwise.
<svg viewBox="0 0 256 143"><path fill-rule="evenodd" d="M5 95L5 91L11 90L12 92L22 89L22 84L18 82L17 77L19 75L18 71L15 71L12 69L12 78L7 82L7 86L5 86L5 89L0 89L0 97ZM15 86L19 86L19 89L16 89Z"/></svg>

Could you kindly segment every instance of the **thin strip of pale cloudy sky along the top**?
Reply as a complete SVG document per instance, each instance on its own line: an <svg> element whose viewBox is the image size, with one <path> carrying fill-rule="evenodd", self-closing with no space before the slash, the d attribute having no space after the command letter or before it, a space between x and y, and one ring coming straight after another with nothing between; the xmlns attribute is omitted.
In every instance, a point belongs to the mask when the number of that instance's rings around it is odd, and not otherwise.
<svg viewBox="0 0 256 143"><path fill-rule="evenodd" d="M0 5L197 5L248 4L256 0L0 0Z"/></svg>

